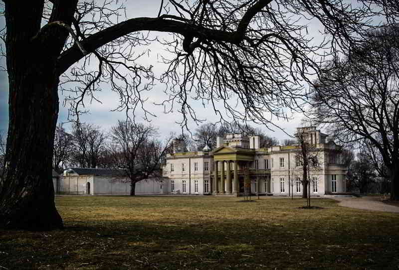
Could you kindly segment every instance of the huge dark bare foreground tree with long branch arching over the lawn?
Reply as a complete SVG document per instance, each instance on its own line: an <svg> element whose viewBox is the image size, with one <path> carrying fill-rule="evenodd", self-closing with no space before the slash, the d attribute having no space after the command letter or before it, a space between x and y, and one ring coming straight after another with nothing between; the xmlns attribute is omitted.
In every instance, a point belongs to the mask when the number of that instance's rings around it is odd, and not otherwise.
<svg viewBox="0 0 399 270"><path fill-rule="evenodd" d="M197 118L190 97L220 117L221 103L230 117L270 124L265 115L284 117L281 107L300 103L301 80L318 70L318 49L347 46L367 15L343 0L161 0L154 17L126 19L114 5L121 1L2 2L9 128L0 224L38 230L63 227L51 180L58 90L71 91L75 114L105 83L120 96L116 110L145 109L142 94L154 74L136 48L151 42L147 31L173 33L162 41L173 57L164 59L160 79L182 125ZM330 39L315 44L306 35L312 18Z"/></svg>

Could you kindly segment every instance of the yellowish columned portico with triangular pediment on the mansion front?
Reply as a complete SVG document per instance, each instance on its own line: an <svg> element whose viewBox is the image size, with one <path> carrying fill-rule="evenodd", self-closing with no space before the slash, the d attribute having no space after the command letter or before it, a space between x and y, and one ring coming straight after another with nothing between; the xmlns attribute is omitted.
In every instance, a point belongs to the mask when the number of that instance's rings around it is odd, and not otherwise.
<svg viewBox="0 0 399 270"><path fill-rule="evenodd" d="M215 195L239 195L238 172L254 160L255 150L222 145L213 151L213 187ZM231 177L233 170L233 177Z"/></svg>

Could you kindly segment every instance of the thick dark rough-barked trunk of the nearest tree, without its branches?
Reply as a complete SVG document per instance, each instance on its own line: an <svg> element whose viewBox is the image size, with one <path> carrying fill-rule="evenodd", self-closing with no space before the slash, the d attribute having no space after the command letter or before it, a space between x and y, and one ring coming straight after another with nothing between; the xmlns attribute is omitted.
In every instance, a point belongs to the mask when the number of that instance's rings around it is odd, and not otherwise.
<svg viewBox="0 0 399 270"><path fill-rule="evenodd" d="M5 2L9 126L0 181L0 227L62 228L54 203L52 155L58 117L55 43L35 38L43 2ZM47 35L43 33L44 37ZM55 35L56 36L56 35ZM55 46L56 47L56 46Z"/></svg>

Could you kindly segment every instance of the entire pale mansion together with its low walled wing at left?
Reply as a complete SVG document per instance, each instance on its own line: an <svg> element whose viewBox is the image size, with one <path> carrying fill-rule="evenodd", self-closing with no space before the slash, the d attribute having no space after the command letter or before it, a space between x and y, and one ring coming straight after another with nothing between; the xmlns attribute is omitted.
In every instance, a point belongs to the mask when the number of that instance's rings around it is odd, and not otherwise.
<svg viewBox="0 0 399 270"><path fill-rule="evenodd" d="M317 159L309 167L310 194L346 192L347 168L340 148L326 142L327 135L314 127L298 128ZM187 195L301 195L302 159L300 145L259 147L259 136L226 134L217 137L216 148L184 152L182 141L174 140L162 177L136 183L136 194ZM120 170L69 168L54 176L56 193L129 194L130 184Z"/></svg>

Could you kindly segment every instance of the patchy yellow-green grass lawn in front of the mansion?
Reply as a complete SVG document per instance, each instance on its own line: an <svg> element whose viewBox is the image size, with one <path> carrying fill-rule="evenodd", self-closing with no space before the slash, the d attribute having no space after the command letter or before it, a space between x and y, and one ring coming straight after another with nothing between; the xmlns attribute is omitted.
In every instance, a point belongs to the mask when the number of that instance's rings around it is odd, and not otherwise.
<svg viewBox="0 0 399 270"><path fill-rule="evenodd" d="M65 196L65 229L0 230L4 269L399 269L399 214L331 199Z"/></svg>

